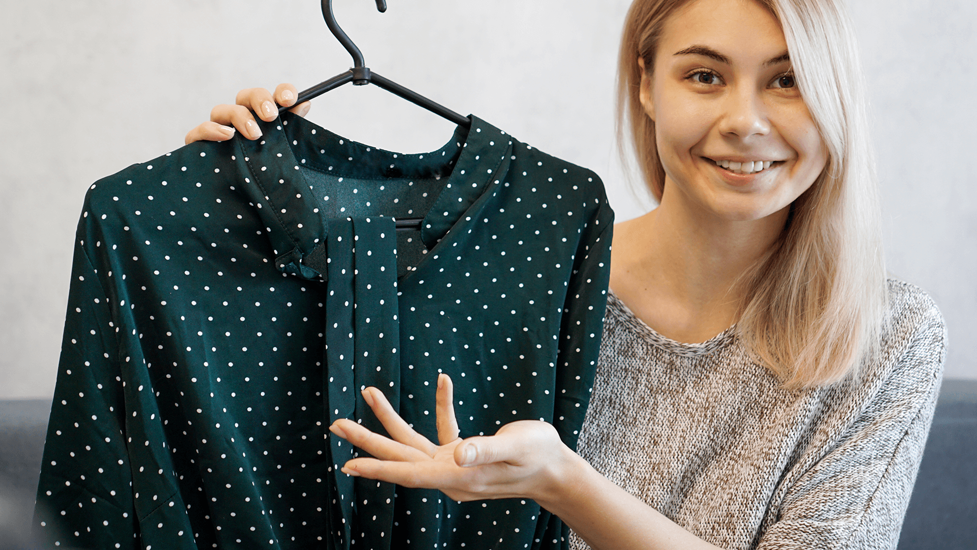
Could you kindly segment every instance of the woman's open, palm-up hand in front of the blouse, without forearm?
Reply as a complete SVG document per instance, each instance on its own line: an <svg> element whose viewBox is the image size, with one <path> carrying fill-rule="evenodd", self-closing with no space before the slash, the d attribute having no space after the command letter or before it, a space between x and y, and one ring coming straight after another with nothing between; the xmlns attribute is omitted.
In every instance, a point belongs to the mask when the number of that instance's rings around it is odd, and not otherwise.
<svg viewBox="0 0 977 550"><path fill-rule="evenodd" d="M363 398L393 439L375 434L357 422L341 418L329 430L376 458L354 458L342 471L410 488L438 489L459 501L488 498L532 498L545 502L572 469L582 462L560 440L551 424L519 420L499 428L494 436L458 437L451 378L438 376L437 422L440 445L415 432L375 387Z"/></svg>

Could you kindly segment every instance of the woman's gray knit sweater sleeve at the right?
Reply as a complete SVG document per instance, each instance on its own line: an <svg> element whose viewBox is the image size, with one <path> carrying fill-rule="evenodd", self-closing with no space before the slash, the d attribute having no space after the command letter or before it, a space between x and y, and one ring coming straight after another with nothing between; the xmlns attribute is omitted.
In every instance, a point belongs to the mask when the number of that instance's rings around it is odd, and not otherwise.
<svg viewBox="0 0 977 550"><path fill-rule="evenodd" d="M924 307L909 315L915 330L894 370L835 445L786 491L759 550L896 548L946 357L943 318L919 295Z"/></svg>

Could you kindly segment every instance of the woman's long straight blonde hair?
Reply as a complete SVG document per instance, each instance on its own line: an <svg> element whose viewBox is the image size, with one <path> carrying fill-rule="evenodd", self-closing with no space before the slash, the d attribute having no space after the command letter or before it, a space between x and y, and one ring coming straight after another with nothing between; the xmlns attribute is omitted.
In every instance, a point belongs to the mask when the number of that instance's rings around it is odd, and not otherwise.
<svg viewBox="0 0 977 550"><path fill-rule="evenodd" d="M693 0L635 0L621 40L618 133L660 201L664 168L655 122L639 99L644 59L654 71L665 20ZM741 276L737 330L791 390L855 376L877 353L887 303L881 219L864 83L839 0L756 0L784 29L797 86L824 140L828 164L790 206L780 239Z"/></svg>

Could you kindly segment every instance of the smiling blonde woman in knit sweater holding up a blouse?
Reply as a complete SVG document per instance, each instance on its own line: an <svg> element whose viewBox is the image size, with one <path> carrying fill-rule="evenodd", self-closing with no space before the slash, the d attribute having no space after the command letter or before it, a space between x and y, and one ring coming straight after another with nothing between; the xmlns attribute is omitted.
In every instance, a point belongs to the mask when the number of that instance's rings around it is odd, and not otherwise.
<svg viewBox="0 0 977 550"><path fill-rule="evenodd" d="M894 548L945 328L885 278L855 51L837 0L636 0L619 105L659 205L616 226L578 453L541 421L459 439L442 374L439 444L367 388L392 439L337 421L379 458L344 471L533 498L575 548ZM294 98L243 91L188 142Z"/></svg>

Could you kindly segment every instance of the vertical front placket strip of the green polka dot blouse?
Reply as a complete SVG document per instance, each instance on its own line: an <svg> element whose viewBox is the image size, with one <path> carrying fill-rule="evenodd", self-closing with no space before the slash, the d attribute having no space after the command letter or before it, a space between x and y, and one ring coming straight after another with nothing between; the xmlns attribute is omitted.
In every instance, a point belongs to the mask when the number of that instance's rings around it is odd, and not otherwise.
<svg viewBox="0 0 977 550"><path fill-rule="evenodd" d="M400 403L400 334L397 320L396 227L393 218L330 220L327 249L325 342L329 423L360 418L383 433L360 389L383 388L394 407ZM356 243L350 247L347 243ZM329 493L337 546L361 532L367 548L384 548L393 528L392 484L353 478L339 471L354 458L352 446L329 437L332 475ZM384 540L386 538L386 540ZM386 542L386 544L385 544Z"/></svg>

